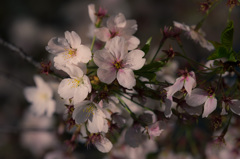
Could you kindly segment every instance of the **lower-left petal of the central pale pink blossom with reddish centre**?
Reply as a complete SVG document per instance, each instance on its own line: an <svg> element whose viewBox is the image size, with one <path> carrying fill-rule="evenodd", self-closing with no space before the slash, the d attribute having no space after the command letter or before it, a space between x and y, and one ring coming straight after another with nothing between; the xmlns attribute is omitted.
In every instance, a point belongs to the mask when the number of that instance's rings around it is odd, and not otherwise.
<svg viewBox="0 0 240 159"><path fill-rule="evenodd" d="M116 78L116 71L115 70L104 70L99 68L97 70L98 78L101 82L110 84Z"/></svg>

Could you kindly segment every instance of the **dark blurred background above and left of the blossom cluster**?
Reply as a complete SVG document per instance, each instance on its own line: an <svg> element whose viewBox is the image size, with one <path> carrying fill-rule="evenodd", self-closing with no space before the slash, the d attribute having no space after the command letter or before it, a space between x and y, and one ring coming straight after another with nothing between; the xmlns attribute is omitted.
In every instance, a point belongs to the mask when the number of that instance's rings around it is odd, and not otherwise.
<svg viewBox="0 0 240 159"><path fill-rule="evenodd" d="M173 21L188 25L198 23L204 16L200 12L201 0L1 0L0 37L13 43L38 62L48 61L45 50L50 38L64 36L66 30L76 31L85 45L90 45L87 5L95 3L108 10L109 15L122 12L127 19L136 19L138 31L135 34L142 47L153 37L150 52L156 51L162 37L160 28L172 26ZM204 22L202 29L208 40L220 41L225 28L228 7L225 0L217 6ZM234 8L234 49L240 50L240 10ZM199 62L206 62L210 52L184 36L182 41L187 55ZM168 40L163 49L172 45L180 51L175 42ZM186 65L184 62L180 66ZM29 107L23 96L23 88L34 85L33 75L40 70L23 60L18 53L0 45L0 158L34 158L21 143L20 123ZM45 77L49 80L51 77Z"/></svg>

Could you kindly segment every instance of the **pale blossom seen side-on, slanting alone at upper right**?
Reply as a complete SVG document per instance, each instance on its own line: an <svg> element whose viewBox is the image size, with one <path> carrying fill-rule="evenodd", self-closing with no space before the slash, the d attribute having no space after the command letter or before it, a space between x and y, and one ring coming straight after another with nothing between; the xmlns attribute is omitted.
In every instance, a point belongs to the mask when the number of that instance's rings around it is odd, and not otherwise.
<svg viewBox="0 0 240 159"><path fill-rule="evenodd" d="M205 48L209 51L214 50L214 46L204 38L205 33L201 29L195 30L195 25L188 26L188 25L181 24L181 23L178 23L178 22L175 22L175 21L173 22L173 24L174 24L175 27L186 31L188 36L191 37L195 42L199 42L199 44L203 48Z"/></svg>

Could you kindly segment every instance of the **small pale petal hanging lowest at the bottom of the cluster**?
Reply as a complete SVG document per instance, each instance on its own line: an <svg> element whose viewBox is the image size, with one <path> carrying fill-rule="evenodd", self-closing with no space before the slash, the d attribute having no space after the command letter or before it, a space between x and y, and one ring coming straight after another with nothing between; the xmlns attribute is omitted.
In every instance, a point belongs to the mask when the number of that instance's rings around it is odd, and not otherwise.
<svg viewBox="0 0 240 159"><path fill-rule="evenodd" d="M101 140L96 141L94 145L99 151L103 153L109 152L113 146L112 143L106 137L102 137Z"/></svg>

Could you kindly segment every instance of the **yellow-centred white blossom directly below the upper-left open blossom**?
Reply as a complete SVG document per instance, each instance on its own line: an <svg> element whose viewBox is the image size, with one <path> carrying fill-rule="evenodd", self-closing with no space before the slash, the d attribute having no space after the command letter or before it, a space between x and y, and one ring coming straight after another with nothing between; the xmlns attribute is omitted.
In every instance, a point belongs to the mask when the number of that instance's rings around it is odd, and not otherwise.
<svg viewBox="0 0 240 159"><path fill-rule="evenodd" d="M66 65L64 69L71 78L63 79L58 86L58 94L63 99L72 99L73 104L82 102L91 92L92 86L89 78L82 69L73 65Z"/></svg>

